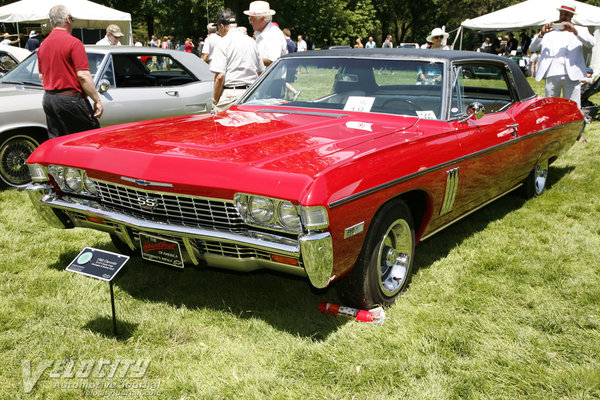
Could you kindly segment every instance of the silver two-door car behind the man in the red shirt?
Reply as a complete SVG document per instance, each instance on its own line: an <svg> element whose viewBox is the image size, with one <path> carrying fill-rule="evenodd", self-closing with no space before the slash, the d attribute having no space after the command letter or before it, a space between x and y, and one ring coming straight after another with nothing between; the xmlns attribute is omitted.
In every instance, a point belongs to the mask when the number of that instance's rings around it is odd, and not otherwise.
<svg viewBox="0 0 600 400"><path fill-rule="evenodd" d="M134 46L86 46L101 126L209 112L214 75L197 56ZM48 139L37 53L0 79L0 185L29 183L27 157Z"/></svg>

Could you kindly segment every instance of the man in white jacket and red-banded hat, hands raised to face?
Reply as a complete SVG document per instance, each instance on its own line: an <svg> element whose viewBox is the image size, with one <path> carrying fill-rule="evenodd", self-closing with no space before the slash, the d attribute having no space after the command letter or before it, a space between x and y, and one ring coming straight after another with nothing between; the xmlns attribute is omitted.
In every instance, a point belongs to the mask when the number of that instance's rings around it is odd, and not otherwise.
<svg viewBox="0 0 600 400"><path fill-rule="evenodd" d="M580 80L585 77L583 46L594 46L594 37L587 28L574 25L575 5L557 8L558 22L549 22L535 36L529 50L541 49L535 80L546 79L546 97L571 99L581 107Z"/></svg>

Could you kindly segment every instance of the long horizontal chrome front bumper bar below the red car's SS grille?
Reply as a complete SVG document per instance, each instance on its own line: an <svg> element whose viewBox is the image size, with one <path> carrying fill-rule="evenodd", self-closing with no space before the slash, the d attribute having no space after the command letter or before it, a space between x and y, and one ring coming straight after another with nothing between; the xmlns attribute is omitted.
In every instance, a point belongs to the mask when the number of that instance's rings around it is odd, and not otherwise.
<svg viewBox="0 0 600 400"><path fill-rule="evenodd" d="M267 242L264 239L256 239L250 236L245 236L239 233L229 233L229 232L221 232L210 229L203 228L192 228L186 226L175 226L175 225L167 225L157 222L145 221L142 219L137 219L133 217L129 217L123 214L119 214L116 212L103 210L101 208L95 208L88 205L83 204L75 204L70 203L61 199L56 198L56 196L46 196L40 200L42 204L50 206L52 208L57 208L60 210L64 210L66 212L80 212L84 215L91 215L95 217L100 217L108 221L112 221L113 223L125 226L131 226L132 228L136 228L139 230L147 230L152 232L161 233L173 236L181 236L181 237L194 237L198 239L204 240L221 240L228 243L241 243L246 246L262 249L265 251L274 251L277 253L281 253L284 255L289 255L291 257L299 257L300 256L300 246L299 245L287 245L283 243L276 242ZM289 240L285 238L286 240Z"/></svg>

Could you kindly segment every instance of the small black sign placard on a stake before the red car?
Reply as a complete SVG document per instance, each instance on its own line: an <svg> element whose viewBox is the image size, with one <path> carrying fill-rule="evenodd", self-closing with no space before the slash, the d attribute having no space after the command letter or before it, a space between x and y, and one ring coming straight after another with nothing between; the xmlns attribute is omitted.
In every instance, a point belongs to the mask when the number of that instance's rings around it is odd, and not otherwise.
<svg viewBox="0 0 600 400"><path fill-rule="evenodd" d="M127 261L129 256L86 247L71 261L67 271L110 282Z"/></svg>

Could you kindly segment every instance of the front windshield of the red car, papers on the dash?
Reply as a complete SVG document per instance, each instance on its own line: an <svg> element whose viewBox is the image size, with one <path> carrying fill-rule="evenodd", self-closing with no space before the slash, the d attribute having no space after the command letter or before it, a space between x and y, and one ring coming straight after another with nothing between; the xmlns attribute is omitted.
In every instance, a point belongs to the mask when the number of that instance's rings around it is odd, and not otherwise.
<svg viewBox="0 0 600 400"><path fill-rule="evenodd" d="M439 119L444 70L432 61L284 58L240 104Z"/></svg>

